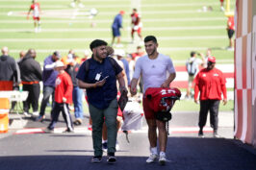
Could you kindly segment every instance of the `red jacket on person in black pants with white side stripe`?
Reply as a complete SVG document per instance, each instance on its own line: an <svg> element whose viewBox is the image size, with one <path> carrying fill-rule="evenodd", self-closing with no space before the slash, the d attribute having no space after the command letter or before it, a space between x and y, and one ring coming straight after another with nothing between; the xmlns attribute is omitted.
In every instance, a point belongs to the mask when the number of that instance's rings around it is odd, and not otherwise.
<svg viewBox="0 0 256 170"><path fill-rule="evenodd" d="M66 72L59 74L55 84L55 102L63 103L64 97L67 104L72 104L73 84L70 76Z"/></svg>

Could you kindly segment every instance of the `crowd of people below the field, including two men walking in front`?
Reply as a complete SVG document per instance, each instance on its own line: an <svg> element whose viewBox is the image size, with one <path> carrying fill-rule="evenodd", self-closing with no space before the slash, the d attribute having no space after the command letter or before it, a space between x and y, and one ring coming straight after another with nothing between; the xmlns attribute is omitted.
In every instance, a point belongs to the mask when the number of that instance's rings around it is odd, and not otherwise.
<svg viewBox="0 0 256 170"><path fill-rule="evenodd" d="M100 162L105 149L108 154L107 161L115 163L116 136L121 123L117 116L120 111L116 98L117 91L127 95L130 88L129 96L133 97L137 95L138 85L142 82L141 100L150 145L150 156L146 162L151 163L158 159L161 164L166 164L166 122L157 118L159 112L163 110L152 109L145 94L147 89L152 87L167 90L176 77L176 71L171 59L158 52L158 41L155 36L146 36L144 47L145 54L141 47L138 47L134 54L125 54L120 49L115 50L108 46L106 41L95 39L90 43L92 52L90 58L88 51L85 51L85 59L80 59L73 50L69 50L63 58L60 52L55 51L45 58L42 69L35 60L37 57L35 49L29 49L25 55L21 52L20 59L14 61L9 56L8 47L3 47L3 55L0 57L0 90L13 90L13 86L21 83L23 89L29 92L23 104L24 114L29 114L32 106L36 121L43 121L45 118L45 108L52 96L51 122L46 132L54 131L62 111L66 123L65 133L72 133L74 125L83 123L82 96L86 90L94 150L91 162ZM196 70L192 74L192 78L195 77L194 102L200 101L198 136L201 137L204 136L203 128L209 110L211 127L214 129L214 136L218 137L218 107L221 94L223 94L223 104L227 103L225 78L215 67L216 58L210 52L211 50L208 49L208 56L201 58L203 62L198 62L201 65L206 62L207 66L199 70L196 63ZM195 52L191 53L192 61L195 61L195 54ZM43 83L43 97L38 111L40 81ZM74 122L70 113L72 104L76 118Z"/></svg>

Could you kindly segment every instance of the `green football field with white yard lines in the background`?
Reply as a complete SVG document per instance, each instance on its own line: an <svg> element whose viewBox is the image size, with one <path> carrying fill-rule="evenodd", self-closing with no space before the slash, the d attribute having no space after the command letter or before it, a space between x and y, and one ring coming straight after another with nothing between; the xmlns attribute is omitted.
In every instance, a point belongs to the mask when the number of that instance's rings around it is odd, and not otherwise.
<svg viewBox="0 0 256 170"><path fill-rule="evenodd" d="M21 50L35 48L37 60L59 50L66 55L69 49L83 57L90 41L102 38L111 42L111 25L115 14L125 11L122 44L127 53L135 52L137 41L131 42L130 14L133 8L141 12L142 36L154 35L159 51L184 64L192 50L205 53L212 48L220 63L233 63L234 52L228 45L227 17L220 12L218 0L82 0L85 8L71 8L72 0L38 0L41 7L41 32L34 32L33 19L26 19L31 0L0 0L0 46L8 46L10 54L18 58ZM231 0L231 9L235 2ZM212 7L212 12L204 8ZM89 17L90 9L97 15ZM92 27L93 25L93 27Z"/></svg>

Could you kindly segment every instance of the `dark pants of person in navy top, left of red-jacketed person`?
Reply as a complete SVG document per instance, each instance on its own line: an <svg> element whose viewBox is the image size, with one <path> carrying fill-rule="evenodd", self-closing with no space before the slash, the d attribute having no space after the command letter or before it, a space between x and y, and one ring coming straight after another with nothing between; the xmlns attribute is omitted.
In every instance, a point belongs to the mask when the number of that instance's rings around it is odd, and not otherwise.
<svg viewBox="0 0 256 170"><path fill-rule="evenodd" d="M43 85L43 96L41 100L41 105L40 105L40 115L44 115L45 108L47 106L47 103L49 102L49 98L52 95L52 108L54 105L54 92L55 92L55 87L54 86L49 86L49 85Z"/></svg>

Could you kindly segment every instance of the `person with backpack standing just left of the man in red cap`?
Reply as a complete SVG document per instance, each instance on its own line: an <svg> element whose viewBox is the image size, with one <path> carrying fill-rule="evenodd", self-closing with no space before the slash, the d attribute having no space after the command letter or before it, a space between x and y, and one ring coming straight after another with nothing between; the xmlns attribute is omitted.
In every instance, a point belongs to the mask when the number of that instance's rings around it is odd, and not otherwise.
<svg viewBox="0 0 256 170"><path fill-rule="evenodd" d="M199 55L200 56L200 55ZM201 56L202 58L202 56ZM192 82L194 79L194 76L197 74L199 71L199 65L202 64L202 60L196 58L196 53L194 51L191 52L191 58L188 59L186 62L186 69L189 75L189 80L188 80L188 88L187 88L187 93L185 98L189 99L192 96Z"/></svg>

